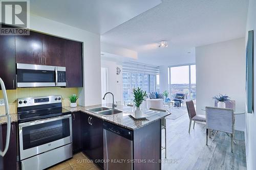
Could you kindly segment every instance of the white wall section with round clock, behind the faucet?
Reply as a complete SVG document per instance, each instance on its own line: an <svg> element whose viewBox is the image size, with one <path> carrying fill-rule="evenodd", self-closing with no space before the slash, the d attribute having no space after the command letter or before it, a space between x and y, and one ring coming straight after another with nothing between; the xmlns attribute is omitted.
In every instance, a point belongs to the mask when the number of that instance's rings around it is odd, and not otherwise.
<svg viewBox="0 0 256 170"><path fill-rule="evenodd" d="M112 92L115 102L122 103L122 65L115 61L109 61L101 57L101 67L108 68L108 91ZM121 69L119 75L116 75L116 67ZM112 96L108 94L108 102L112 103Z"/></svg>

